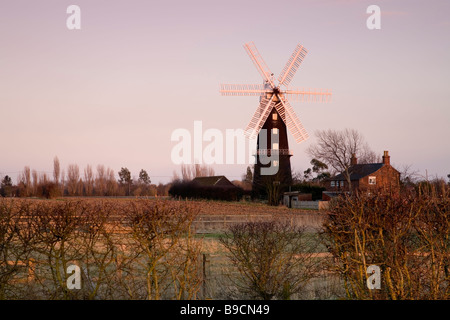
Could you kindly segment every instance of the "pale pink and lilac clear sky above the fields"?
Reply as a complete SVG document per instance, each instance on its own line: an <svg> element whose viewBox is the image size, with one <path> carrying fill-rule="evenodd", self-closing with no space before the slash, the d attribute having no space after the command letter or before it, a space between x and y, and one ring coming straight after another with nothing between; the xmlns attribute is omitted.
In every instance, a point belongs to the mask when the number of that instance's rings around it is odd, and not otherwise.
<svg viewBox="0 0 450 320"><path fill-rule="evenodd" d="M381 9L370 30L369 5ZM81 10L70 30L66 10ZM301 43L291 87L324 88L326 104L291 101L310 138L289 136L294 171L310 167L316 130L358 130L391 164L450 173L450 2L411 0L0 0L0 176L78 164L145 169L169 182L177 129L244 129L258 97L220 83L261 83L243 45L277 76ZM247 164L214 164L240 179ZM14 180L15 181L15 180Z"/></svg>

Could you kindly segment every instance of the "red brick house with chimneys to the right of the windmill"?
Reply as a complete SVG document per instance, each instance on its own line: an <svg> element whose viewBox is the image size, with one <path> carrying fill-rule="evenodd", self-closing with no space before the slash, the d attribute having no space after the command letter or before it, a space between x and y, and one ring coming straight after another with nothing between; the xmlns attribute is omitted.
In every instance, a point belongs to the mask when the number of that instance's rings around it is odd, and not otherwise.
<svg viewBox="0 0 450 320"><path fill-rule="evenodd" d="M388 151L384 151L381 163L358 164L355 154L352 155L348 168L351 181L351 190L367 191L386 188L398 190L400 188L400 172L391 166ZM323 193L323 199L328 200L333 195L348 191L348 182L345 173L342 172L327 182L327 191Z"/></svg>

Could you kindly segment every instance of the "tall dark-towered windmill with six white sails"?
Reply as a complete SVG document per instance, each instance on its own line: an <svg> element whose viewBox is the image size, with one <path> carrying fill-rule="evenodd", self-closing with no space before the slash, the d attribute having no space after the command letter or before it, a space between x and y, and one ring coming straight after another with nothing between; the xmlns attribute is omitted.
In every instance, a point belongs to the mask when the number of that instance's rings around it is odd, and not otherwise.
<svg viewBox="0 0 450 320"><path fill-rule="evenodd" d="M297 45L286 63L277 79L277 84L273 73L267 67L254 43L247 43L244 48L261 74L263 83L221 84L220 93L225 96L260 97L259 107L245 129L247 137L251 139L258 137L253 174L253 191L255 195L258 195L267 183L287 186L292 182L290 164L292 153L289 151L287 129L297 143L308 139L306 129L301 124L287 98L292 97L302 102L328 102L331 98L331 91L289 88L292 78L308 52L301 44ZM262 148L260 148L261 129L265 129L265 132L267 132L266 145L264 146L263 143ZM272 143L272 137L277 142ZM272 155L277 156L278 160L272 161L270 164L261 161L263 157ZM264 177L264 174L261 175L261 168L268 166L278 167L276 174Z"/></svg>

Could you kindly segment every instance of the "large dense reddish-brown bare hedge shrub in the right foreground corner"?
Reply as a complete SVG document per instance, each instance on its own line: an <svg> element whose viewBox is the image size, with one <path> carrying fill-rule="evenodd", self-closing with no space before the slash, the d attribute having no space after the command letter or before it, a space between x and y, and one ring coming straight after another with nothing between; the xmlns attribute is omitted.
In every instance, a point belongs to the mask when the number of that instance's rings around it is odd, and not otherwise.
<svg viewBox="0 0 450 320"><path fill-rule="evenodd" d="M432 190L343 195L323 233L347 295L356 299L448 299L450 194ZM369 265L381 269L381 290L368 290Z"/></svg>

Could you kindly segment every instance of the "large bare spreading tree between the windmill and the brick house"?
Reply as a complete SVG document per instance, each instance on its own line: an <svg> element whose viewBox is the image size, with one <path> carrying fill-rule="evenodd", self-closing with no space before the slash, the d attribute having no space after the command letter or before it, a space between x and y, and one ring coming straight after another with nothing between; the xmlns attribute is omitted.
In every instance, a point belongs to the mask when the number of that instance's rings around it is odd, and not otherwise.
<svg viewBox="0 0 450 320"><path fill-rule="evenodd" d="M361 133L354 129L319 130L315 132L317 143L307 149L307 153L317 160L327 164L334 173L343 172L350 188L349 167L351 157L355 154L360 163L372 162L376 155L370 150ZM366 162L367 163L367 162Z"/></svg>

